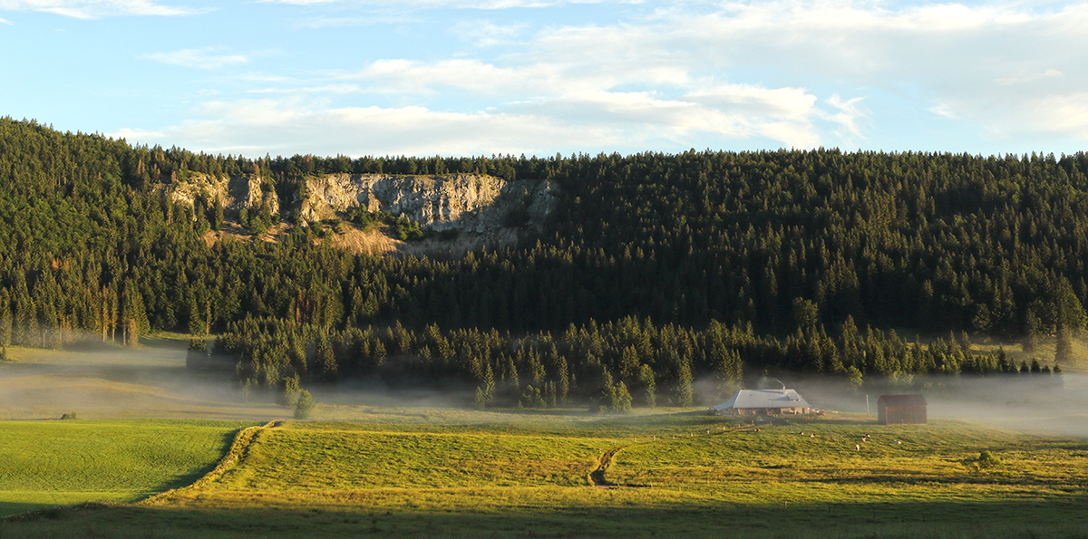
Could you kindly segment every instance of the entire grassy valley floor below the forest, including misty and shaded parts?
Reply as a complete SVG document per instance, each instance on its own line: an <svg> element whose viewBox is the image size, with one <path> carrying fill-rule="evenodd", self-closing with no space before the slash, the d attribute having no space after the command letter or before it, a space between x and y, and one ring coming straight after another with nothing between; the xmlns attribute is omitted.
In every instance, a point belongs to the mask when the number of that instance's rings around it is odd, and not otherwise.
<svg viewBox="0 0 1088 539"><path fill-rule="evenodd" d="M134 504L210 472L249 421L290 411L187 373L173 344L14 352L0 419L81 419L0 422L0 515L44 507L0 519L0 539L1088 537L1075 404L1088 385L1072 376L1050 391L1060 408L1001 386L975 391L989 400L934 388L926 426L832 413L758 431L700 410L481 412L314 387L320 422L264 427L223 473ZM840 410L865 410L845 398ZM1078 437L939 418L953 413ZM208 417L231 421L186 421ZM979 467L981 451L1000 464ZM106 504L60 509L84 501Z"/></svg>

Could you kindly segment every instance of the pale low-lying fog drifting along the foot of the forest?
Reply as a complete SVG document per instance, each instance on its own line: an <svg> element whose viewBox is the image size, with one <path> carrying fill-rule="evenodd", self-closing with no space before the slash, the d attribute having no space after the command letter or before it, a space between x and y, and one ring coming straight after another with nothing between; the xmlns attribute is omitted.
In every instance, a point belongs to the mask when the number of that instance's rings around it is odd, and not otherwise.
<svg viewBox="0 0 1088 539"><path fill-rule="evenodd" d="M18 354L15 354L16 358ZM292 417L267 394L243 399L230 373L190 372L185 350L26 351L0 363L0 419L171 417L271 421ZM910 385L853 389L841 378L779 375L750 386L796 389L814 408L876 418L881 394L920 392L930 418L960 418L1016 430L1088 438L1088 374L916 377ZM696 385L706 405L724 401L714 384ZM309 387L318 402L339 405L465 406L470 392L392 391L374 384ZM703 391L700 391L704 389ZM668 409L665 409L668 410ZM349 418L350 410L335 414Z"/></svg>

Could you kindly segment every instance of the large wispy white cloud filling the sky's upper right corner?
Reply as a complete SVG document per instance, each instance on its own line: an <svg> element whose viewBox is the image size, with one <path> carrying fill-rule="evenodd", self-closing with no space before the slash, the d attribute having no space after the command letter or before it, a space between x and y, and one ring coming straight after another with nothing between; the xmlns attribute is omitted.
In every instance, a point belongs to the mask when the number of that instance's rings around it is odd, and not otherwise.
<svg viewBox="0 0 1088 539"><path fill-rule="evenodd" d="M676 80L669 72L728 77L756 71L784 86L865 92L840 98L839 104L907 91L913 95L906 99L922 100L919 112L976 124L979 133L1078 133L1024 121L1035 113L1031 103L1076 103L1088 87L1088 72L1080 67L1088 64L1083 29L1088 2L1046 10L1030 3L729 2L697 17L670 9L641 24L559 28L527 54L571 58L593 51L581 65L592 76L632 78L626 73L633 72L655 86ZM646 76L652 67L665 75L653 80ZM839 109L830 99L826 104ZM843 135L864 135L864 125L840 125Z"/></svg>

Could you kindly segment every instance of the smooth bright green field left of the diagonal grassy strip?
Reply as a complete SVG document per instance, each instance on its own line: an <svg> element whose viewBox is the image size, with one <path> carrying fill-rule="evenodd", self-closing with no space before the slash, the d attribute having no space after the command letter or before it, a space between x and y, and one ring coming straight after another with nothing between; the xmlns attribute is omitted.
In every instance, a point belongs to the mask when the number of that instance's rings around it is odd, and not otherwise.
<svg viewBox="0 0 1088 539"><path fill-rule="evenodd" d="M0 516L87 501L131 502L212 467L237 422L0 423Z"/></svg>

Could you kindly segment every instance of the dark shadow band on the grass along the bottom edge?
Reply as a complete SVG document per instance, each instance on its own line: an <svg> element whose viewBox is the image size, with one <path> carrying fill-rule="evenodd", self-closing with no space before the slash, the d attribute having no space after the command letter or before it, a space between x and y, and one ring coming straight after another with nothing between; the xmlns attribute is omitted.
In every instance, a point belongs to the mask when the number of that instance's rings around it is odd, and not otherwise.
<svg viewBox="0 0 1088 539"><path fill-rule="evenodd" d="M450 493L456 496L456 493ZM82 504L0 519L0 537L1086 537L1083 497L988 502L729 502L425 510L292 504L245 509Z"/></svg>

